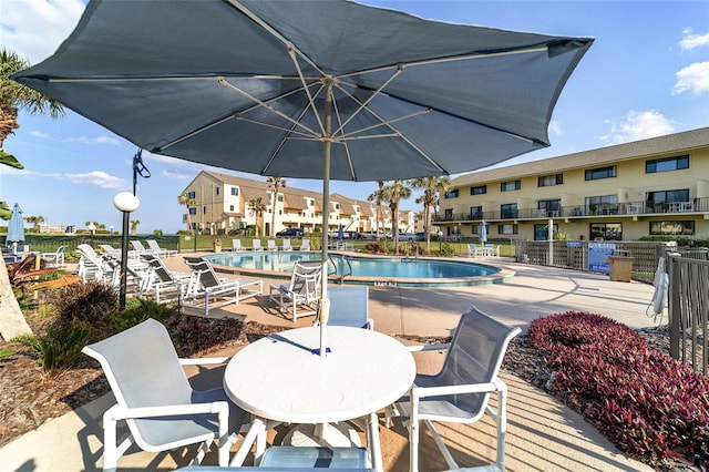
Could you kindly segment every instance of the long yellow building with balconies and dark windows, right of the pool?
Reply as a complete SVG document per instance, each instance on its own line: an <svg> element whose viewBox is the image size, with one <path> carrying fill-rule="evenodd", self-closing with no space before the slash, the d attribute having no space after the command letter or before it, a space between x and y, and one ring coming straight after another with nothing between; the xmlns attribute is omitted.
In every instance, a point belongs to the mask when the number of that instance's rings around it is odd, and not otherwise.
<svg viewBox="0 0 709 472"><path fill-rule="evenodd" d="M486 170L452 179L434 222L487 238L709 239L709 127Z"/></svg>

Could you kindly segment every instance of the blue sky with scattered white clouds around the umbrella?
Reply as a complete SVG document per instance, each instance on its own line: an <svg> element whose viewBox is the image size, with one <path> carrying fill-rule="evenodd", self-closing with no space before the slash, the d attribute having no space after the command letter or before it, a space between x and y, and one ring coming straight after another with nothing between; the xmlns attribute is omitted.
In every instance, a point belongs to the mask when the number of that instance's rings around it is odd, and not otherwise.
<svg viewBox="0 0 709 472"><path fill-rule="evenodd" d="M593 37L568 80L549 124L552 146L503 165L594 150L709 125L709 1L382 1L366 4L425 19L545 34ZM71 33L82 0L0 0L0 47L35 64ZM131 191L132 143L68 111L59 120L19 115L4 142L23 171L0 166L0 201L50 225L86 222L121 227L113 197ZM199 171L264 181L143 153L151 177L138 177L138 233L175 233L184 207L177 196ZM290 187L321 191L320 181L286 178ZM330 191L366 201L376 183L331 182ZM420 211L417 193L403 209Z"/></svg>

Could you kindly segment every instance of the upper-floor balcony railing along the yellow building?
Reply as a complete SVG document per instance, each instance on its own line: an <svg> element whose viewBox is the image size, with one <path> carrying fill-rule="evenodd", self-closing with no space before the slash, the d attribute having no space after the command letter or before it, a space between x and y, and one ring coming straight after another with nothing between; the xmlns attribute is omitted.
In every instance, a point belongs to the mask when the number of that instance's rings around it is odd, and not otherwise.
<svg viewBox="0 0 709 472"><path fill-rule="evenodd" d="M563 206L558 209L522 208L516 211L491 211L477 213L434 214L433 222L486 222L505 219L548 219L548 218L587 218L606 216L640 216L657 214L697 214L709 213L709 197L693 198L689 202L624 202L586 206Z"/></svg>

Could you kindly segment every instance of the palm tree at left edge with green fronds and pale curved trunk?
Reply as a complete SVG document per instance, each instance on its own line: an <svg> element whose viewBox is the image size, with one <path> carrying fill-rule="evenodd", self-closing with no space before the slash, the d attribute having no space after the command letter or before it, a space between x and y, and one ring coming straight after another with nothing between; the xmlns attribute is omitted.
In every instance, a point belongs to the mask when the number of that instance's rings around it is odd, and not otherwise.
<svg viewBox="0 0 709 472"><path fill-rule="evenodd" d="M52 119L64 115L64 107L59 102L10 80L10 74L30 65L28 60L4 48L0 49L0 156L2 156L3 163L13 167L22 165L14 160L14 156L3 151L2 145L4 140L20 127L19 110L31 114L49 115ZM2 338L7 340L22 335L31 335L32 329L24 320L24 315L22 315L20 305L12 293L4 259L0 261L0 300L2 300L0 302L0 335Z"/></svg>

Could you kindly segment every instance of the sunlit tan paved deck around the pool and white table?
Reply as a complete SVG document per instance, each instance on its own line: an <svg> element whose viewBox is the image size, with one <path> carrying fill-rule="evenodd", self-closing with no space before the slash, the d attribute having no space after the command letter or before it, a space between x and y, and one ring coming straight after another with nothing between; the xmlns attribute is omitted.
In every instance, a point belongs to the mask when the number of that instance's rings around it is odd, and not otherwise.
<svg viewBox="0 0 709 472"><path fill-rule="evenodd" d="M166 259L171 268L186 270L182 258ZM449 336L458 317L470 306L525 329L540 316L567 310L600 314L633 328L654 325L646 315L653 287L639 283L610 281L607 276L520 265L499 259L515 277L503 285L451 288L370 288L370 316L378 331L407 336ZM268 283L265 280L265 291ZM282 281L281 281L282 283ZM250 299L229 307L224 315L246 321L309 326L311 317L297 324L277 315L267 302ZM226 352L232 353L232 352ZM419 371L434 371L443 359L438 352L417 359ZM206 377L205 377L206 376ZM503 373L510 389L506 463L508 471L651 471L628 460L583 418L542 390ZM195 384L218 379L204 372ZM218 381L218 380L217 380ZM102 463L101 414L112 402L111 394L49 421L38 430L0 449L2 471L84 471ZM493 458L494 432L487 419L473 425L443 427L440 432L452 447L461 466L474 466ZM275 435L282 434L276 431ZM381 429L386 470L408 470L408 443L401 427ZM443 470L428 433L422 438L422 471ZM119 461L121 470L172 470L185 464L185 451L174 453L135 452ZM205 463L215 463L207 456Z"/></svg>

